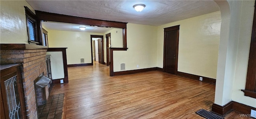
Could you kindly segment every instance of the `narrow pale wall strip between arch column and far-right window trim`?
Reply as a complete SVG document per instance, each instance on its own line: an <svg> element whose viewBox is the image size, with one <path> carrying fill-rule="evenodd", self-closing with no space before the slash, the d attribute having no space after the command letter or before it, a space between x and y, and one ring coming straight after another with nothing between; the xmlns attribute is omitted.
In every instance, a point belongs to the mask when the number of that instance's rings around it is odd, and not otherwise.
<svg viewBox="0 0 256 119"><path fill-rule="evenodd" d="M255 1L243 1L240 20L240 31L238 50L236 56L236 71L234 72L234 86L232 89L232 100L250 105L256 108L256 99L244 96L241 89L245 89L246 75L248 67L248 57L250 52L250 40L252 36L252 20Z"/></svg>

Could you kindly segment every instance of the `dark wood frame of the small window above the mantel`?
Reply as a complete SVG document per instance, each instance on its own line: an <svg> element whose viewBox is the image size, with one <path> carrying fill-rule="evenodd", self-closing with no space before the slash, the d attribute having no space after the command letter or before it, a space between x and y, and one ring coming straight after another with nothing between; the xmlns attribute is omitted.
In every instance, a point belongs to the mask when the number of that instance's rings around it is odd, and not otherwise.
<svg viewBox="0 0 256 119"><path fill-rule="evenodd" d="M36 22L36 14L34 14L27 6L24 6L25 14L26 14L26 23L27 23L27 32L28 32L28 43L34 45L42 45L38 39L38 29L37 29L37 22ZM30 27L29 21L33 23L33 31L34 31L34 39L30 39Z"/></svg>

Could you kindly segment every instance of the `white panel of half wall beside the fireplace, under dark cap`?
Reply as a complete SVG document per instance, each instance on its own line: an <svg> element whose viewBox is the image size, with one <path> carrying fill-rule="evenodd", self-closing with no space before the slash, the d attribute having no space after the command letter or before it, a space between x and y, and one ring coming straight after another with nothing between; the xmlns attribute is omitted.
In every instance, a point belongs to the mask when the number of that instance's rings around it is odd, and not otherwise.
<svg viewBox="0 0 256 119"><path fill-rule="evenodd" d="M64 78L64 64L62 59L62 52L46 52L47 55L51 55L51 69L52 79Z"/></svg>

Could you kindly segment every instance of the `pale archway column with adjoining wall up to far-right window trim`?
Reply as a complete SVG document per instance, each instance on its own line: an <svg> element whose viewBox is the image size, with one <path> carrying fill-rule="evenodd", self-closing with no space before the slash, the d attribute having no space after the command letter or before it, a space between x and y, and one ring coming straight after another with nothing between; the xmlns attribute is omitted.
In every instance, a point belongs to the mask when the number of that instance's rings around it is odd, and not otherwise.
<svg viewBox="0 0 256 119"><path fill-rule="evenodd" d="M222 14L214 100L218 105L236 101L256 107L256 99L244 96L241 91L246 85L254 2L216 1Z"/></svg>

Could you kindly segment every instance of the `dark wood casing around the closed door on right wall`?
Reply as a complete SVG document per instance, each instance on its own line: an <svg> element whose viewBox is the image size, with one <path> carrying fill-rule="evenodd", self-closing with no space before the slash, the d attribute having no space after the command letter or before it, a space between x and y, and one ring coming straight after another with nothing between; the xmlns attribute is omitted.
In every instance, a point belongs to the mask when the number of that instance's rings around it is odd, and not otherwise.
<svg viewBox="0 0 256 119"><path fill-rule="evenodd" d="M175 59L175 75L178 72L178 48L179 48L179 34L180 34L180 25L164 28L164 61L163 61L163 70L165 72L165 53L166 53L166 32L177 30L176 38L176 59Z"/></svg>

